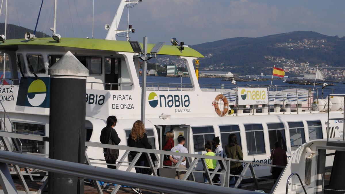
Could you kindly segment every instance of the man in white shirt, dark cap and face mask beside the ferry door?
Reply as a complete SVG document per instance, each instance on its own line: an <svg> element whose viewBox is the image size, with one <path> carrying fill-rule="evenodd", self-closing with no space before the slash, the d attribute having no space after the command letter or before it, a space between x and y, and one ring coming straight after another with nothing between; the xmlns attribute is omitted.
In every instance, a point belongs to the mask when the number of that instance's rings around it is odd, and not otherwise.
<svg viewBox="0 0 345 194"><path fill-rule="evenodd" d="M187 148L184 147L184 145L186 143L185 137L183 135L179 135L177 137L177 141L178 141L178 145L173 147L171 149L171 152L188 153ZM178 163L180 158L181 158L181 156L170 155L169 159L172 162L172 167L176 166L176 164ZM186 168L186 158L185 157L183 157L178 168ZM183 177L185 176L185 174L186 174L186 171L182 171L182 172L176 171L175 179L182 180Z"/></svg>

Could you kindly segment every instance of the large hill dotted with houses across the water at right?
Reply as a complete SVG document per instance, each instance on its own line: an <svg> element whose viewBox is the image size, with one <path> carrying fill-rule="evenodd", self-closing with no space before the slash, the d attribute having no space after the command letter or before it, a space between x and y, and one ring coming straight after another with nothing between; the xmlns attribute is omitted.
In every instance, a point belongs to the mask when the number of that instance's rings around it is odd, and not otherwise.
<svg viewBox="0 0 345 194"><path fill-rule="evenodd" d="M200 60L201 68L241 75L272 74L273 65L278 65L276 58L298 64L309 63L310 66L345 67L345 37L326 36L314 31L228 38L191 47L205 56Z"/></svg>

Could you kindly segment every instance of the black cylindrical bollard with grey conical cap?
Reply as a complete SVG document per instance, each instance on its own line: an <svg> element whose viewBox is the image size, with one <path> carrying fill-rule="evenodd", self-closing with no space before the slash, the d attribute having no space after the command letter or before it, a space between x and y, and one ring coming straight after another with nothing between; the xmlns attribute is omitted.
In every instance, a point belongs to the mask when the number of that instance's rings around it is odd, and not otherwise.
<svg viewBox="0 0 345 194"><path fill-rule="evenodd" d="M89 70L68 51L50 75L49 158L84 164L85 95ZM84 179L49 172L50 194L82 194Z"/></svg>

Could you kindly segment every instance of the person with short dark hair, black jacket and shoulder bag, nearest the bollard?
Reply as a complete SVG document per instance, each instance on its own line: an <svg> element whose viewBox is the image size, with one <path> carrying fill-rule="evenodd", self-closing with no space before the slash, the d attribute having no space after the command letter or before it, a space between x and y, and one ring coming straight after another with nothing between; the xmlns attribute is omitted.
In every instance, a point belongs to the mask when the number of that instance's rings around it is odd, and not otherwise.
<svg viewBox="0 0 345 194"><path fill-rule="evenodd" d="M102 144L108 144L110 132L111 132L110 138L112 142L114 142L116 145L119 145L119 143L121 142L121 139L119 138L119 136L116 133L116 130L114 129L116 122L117 122L116 116L109 116L107 118L107 126L101 130L101 136L99 137L99 140L101 141ZM106 152L107 152L107 148L103 148L104 157L106 157ZM106 161L106 162L107 164L116 164L116 161ZM116 166L108 165L108 168L116 169Z"/></svg>

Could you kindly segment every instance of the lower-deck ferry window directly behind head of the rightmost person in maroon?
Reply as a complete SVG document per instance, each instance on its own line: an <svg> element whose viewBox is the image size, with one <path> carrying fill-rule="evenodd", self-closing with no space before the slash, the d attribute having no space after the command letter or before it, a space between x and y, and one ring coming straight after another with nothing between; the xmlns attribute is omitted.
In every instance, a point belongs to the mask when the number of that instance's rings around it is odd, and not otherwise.
<svg viewBox="0 0 345 194"><path fill-rule="evenodd" d="M282 149L286 149L285 128L283 123L267 123L269 148L274 149L274 143L280 142Z"/></svg>

